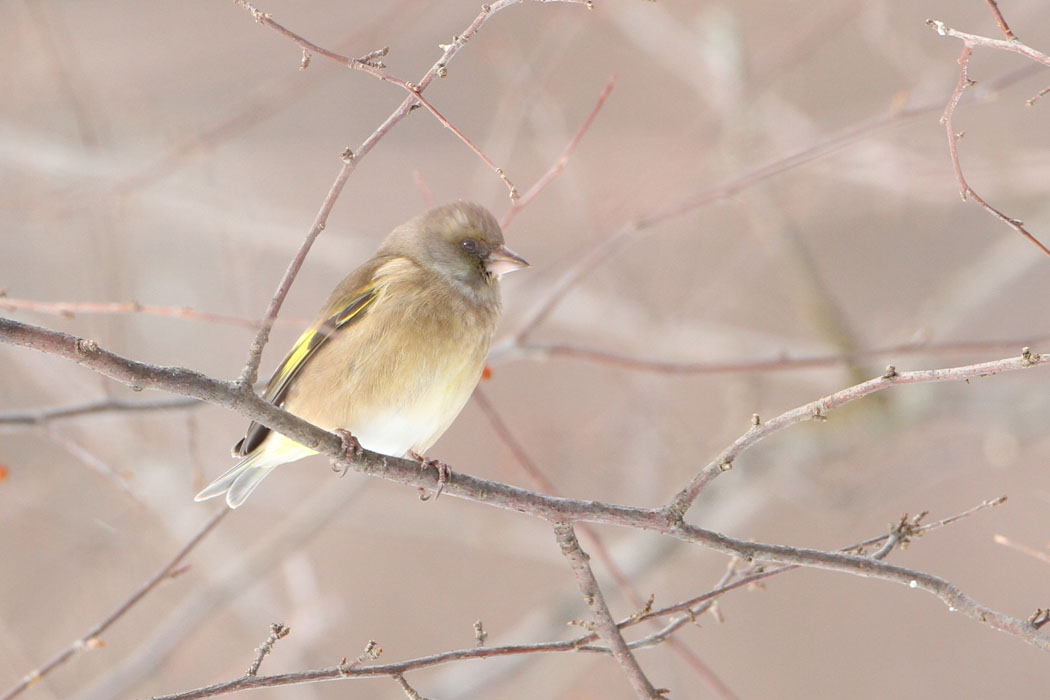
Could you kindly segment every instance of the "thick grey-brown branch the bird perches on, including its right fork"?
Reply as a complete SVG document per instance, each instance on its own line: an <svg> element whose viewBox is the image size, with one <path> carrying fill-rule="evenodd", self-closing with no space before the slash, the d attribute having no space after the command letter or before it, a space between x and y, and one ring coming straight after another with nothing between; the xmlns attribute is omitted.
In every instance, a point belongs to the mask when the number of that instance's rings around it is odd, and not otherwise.
<svg viewBox="0 0 1050 700"><path fill-rule="evenodd" d="M419 464L413 460L396 459L363 450L360 455L349 461L342 447L342 441L338 436L287 413L260 399L251 387L245 387L239 383L224 382L182 367L162 367L136 362L109 353L93 341L8 319L0 319L0 341L65 357L132 386L194 396L233 408L247 418L258 421L267 427L365 474L414 488L434 489L438 485L437 475L428 470L421 472ZM732 461L741 452L775 431L803 421L826 420L827 415L838 406L895 384L968 382L971 379L1003 372L1045 364L1048 360L1050 360L1050 356L1033 354L1025 348L1021 357L960 367L907 373L898 373L894 367L887 367L881 377L786 411L764 424L756 416L748 432L697 472L690 484L663 508L645 509L595 501L553 497L460 472L449 476L444 485L444 492L476 503L526 513L559 527L576 523L616 525L669 535L748 561L793 564L895 581L912 589L932 593L953 611L994 629L1008 632L1031 644L1050 650L1050 635L1042 633L1038 627L1033 625L1032 622L991 610L963 594L949 581L937 576L887 565L867 556L736 539L687 524L684 519L684 514L696 495L710 481L727 471L732 466ZM638 683L637 678L632 675L633 671L627 657L621 656L621 658L625 669L628 670L628 675L632 677L632 682ZM371 670L375 673L378 669L380 666ZM391 666L386 666L386 669L391 669ZM403 671L402 666L398 666L390 673L403 673ZM636 684L635 687L640 687L640 685ZM652 696L639 695L639 697Z"/></svg>

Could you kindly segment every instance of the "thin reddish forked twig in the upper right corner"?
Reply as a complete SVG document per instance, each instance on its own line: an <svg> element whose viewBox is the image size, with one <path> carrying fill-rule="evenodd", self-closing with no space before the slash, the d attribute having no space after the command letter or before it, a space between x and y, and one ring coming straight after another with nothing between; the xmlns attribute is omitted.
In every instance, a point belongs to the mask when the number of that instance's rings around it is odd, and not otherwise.
<svg viewBox="0 0 1050 700"><path fill-rule="evenodd" d="M959 101L963 97L963 91L971 85L975 85L975 82L970 80L969 77L969 64L970 57L973 55L973 47L987 46L989 48L998 48L1004 51L1020 54L1025 58L1050 67L1050 56L1021 43L1010 29L1009 25L1006 23L1002 13L1000 13L995 0L987 0L987 2L991 7L992 14L995 16L995 21L999 23L1000 29L1003 31L1003 36L1005 36L1006 39L989 39L988 37L980 37L973 34L966 34L965 31L957 31L939 20L926 20L926 24L933 28L933 30L942 37L952 37L954 39L960 39L963 42L963 52L959 56L959 83L956 85L956 89L951 93L951 97L948 98L948 104L944 108L944 114L941 116L941 123L944 124L944 128L948 132L948 152L951 154L951 165L956 169L956 179L959 181L959 194L962 196L963 201L966 201L967 198L972 199L974 204L990 213L992 216L1003 221L1024 237L1028 238L1028 240L1030 240L1046 255L1050 255L1050 249L1029 233L1028 230L1025 229L1023 221L1004 214L1002 211L985 201L980 194L973 191L973 188L969 186L966 182L966 177L963 175L963 166L959 161L959 140L963 136L963 134L956 132L951 120L956 113L956 107L959 106ZM1027 103L1028 106L1032 106L1035 100L1046 91L1047 90L1044 90L1029 100Z"/></svg>

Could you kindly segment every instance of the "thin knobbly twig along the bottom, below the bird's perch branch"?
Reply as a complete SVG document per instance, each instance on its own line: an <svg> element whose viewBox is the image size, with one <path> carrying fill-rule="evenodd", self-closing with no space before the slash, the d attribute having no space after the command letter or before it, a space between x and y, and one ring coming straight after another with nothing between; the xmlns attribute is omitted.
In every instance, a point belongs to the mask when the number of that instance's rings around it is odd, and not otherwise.
<svg viewBox="0 0 1050 700"><path fill-rule="evenodd" d="M952 523L969 517L970 515L973 515L982 510L999 506L1005 501L1005 496L985 501L961 513L927 525L920 524L925 513L920 513L910 517L902 515L897 523L890 526L889 531L886 534L870 537L864 542L843 547L838 551L863 554L869 548L878 547L879 549L868 556L873 559L882 559L894 550L907 547L912 539L920 537L931 530L946 527ZM653 610L650 604L649 610L635 612L629 617L616 622L615 627L620 632L623 632L624 630L630 630L645 621L658 620L670 615L684 613L680 616L669 620L658 632L628 643L628 646L631 650L656 646L666 641L673 640L673 637L671 636L673 633L680 630L687 623L696 622L697 616L712 611L715 600L730 591L756 585L763 579L771 578L798 568L799 566L797 565L789 565L774 569L766 569L758 564L751 564L749 566L741 567L739 560L734 560L715 588L707 593L655 610ZM172 695L154 697L152 700L194 700L198 698L213 698L248 688L277 687L324 680L337 680L340 678L375 678L377 676L390 676L396 678L397 676L411 671L419 671L430 666L457 661L467 661L470 659L564 652L592 654L610 653L608 646L595 644L595 641L598 641L597 633L589 631L587 634L564 641L538 642L531 644L504 644L500 646L485 646L481 644L472 649L454 650L430 656L407 659L397 663L362 666L361 664L368 659L371 658L372 660L375 660L378 657L378 654L370 654L366 651L366 653L358 657L356 661L349 664L340 662L339 664L328 669L317 669L290 674L276 674L273 676L246 675L235 680L215 683L213 685L195 688L185 693L175 693ZM376 649L375 642L370 642L369 649Z"/></svg>

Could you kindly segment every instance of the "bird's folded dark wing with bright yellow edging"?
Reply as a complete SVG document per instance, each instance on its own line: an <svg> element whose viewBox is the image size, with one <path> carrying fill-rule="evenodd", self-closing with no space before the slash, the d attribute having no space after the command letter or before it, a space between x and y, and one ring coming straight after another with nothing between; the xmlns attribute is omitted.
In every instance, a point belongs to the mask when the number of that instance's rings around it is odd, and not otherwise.
<svg viewBox="0 0 1050 700"><path fill-rule="evenodd" d="M336 291L336 294L338 292L339 290ZM323 345L336 331L348 323L361 319L372 302L376 300L377 295L378 285L376 280L372 279L366 284L357 288L343 300L337 300L335 303L330 302L326 309L324 317L310 326L295 341L288 357L270 378L262 398L277 406L282 405L295 378L310 361L310 358L317 353L317 348ZM233 455L245 457L251 453L266 440L268 434L270 434L270 428L252 421L251 425L248 426L248 432L233 446Z"/></svg>

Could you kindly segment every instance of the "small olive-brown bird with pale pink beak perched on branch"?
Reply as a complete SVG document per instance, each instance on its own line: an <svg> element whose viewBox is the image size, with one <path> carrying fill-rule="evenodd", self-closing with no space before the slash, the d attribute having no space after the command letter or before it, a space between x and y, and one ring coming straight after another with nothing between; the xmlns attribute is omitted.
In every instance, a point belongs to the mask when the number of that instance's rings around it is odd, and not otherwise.
<svg viewBox="0 0 1050 700"><path fill-rule="evenodd" d="M355 450L427 464L421 455L485 368L502 311L500 278L527 267L482 206L430 209L394 229L335 288L264 398ZM225 495L237 508L276 467L314 453L252 422L233 447L240 461L194 500Z"/></svg>

